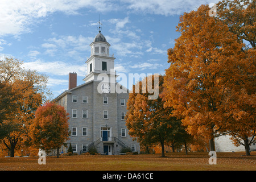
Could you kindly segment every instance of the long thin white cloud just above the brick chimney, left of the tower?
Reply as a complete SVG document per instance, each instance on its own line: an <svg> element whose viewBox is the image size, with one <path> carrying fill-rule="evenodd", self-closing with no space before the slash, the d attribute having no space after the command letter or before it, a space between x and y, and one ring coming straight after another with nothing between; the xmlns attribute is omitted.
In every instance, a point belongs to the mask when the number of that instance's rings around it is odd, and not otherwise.
<svg viewBox="0 0 256 182"><path fill-rule="evenodd" d="M36 60L26 62L23 64L24 68L36 70L38 72L48 73L51 75L64 76L69 72L76 72L77 76L85 76L87 67L86 65L77 65L64 63L63 61L46 62L42 60Z"/></svg>

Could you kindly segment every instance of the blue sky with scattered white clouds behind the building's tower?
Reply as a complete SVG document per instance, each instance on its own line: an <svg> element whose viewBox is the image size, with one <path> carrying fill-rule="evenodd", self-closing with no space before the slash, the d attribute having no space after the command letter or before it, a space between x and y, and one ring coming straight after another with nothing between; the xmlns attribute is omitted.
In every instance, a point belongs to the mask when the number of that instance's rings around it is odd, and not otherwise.
<svg viewBox="0 0 256 182"><path fill-rule="evenodd" d="M216 0L0 0L0 59L46 74L53 98L68 89L68 73L84 83L89 44L101 33L117 74L164 74L167 50L179 38L180 15Z"/></svg>

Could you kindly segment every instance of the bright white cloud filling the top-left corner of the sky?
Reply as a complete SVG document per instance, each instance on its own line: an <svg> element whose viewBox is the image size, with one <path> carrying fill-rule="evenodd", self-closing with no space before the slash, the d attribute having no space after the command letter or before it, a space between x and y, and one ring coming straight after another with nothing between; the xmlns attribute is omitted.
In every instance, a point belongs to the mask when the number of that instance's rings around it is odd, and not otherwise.
<svg viewBox="0 0 256 182"><path fill-rule="evenodd" d="M78 14L77 10L82 7L100 12L118 9L118 5L113 6L112 1L100 0L1 0L0 35L29 32L31 24L40 22L51 13Z"/></svg>

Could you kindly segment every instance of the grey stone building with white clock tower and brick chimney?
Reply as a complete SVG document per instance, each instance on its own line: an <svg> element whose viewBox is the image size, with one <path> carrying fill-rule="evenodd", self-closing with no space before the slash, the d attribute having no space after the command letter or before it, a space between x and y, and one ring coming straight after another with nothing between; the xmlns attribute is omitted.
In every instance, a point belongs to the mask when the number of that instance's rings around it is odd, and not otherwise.
<svg viewBox="0 0 256 182"><path fill-rule="evenodd" d="M101 31L90 48L85 83L77 86L76 73L69 73L69 89L54 100L69 113L71 137L67 142L77 154L93 147L104 155L118 155L125 147L139 152L139 143L125 125L129 91L115 80L115 58L109 55L110 44ZM67 152L67 148L62 150Z"/></svg>

